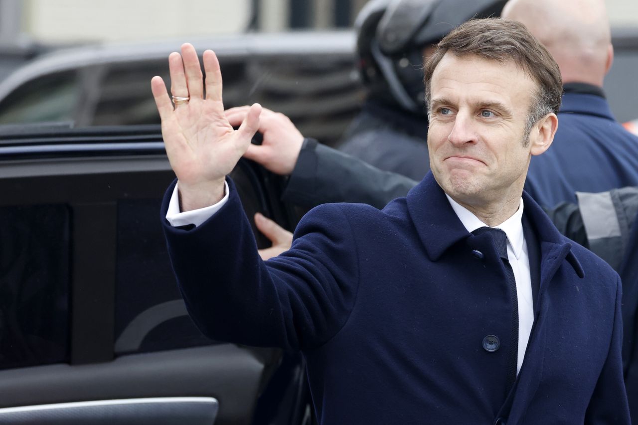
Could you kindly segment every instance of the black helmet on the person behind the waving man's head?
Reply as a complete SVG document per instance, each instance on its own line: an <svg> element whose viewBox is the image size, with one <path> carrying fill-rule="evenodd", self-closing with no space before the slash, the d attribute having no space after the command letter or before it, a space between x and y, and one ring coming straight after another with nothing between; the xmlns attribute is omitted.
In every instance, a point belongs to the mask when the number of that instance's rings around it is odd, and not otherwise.
<svg viewBox="0 0 638 425"><path fill-rule="evenodd" d="M371 96L424 114L423 48L507 0L371 0L357 16L359 69Z"/></svg>

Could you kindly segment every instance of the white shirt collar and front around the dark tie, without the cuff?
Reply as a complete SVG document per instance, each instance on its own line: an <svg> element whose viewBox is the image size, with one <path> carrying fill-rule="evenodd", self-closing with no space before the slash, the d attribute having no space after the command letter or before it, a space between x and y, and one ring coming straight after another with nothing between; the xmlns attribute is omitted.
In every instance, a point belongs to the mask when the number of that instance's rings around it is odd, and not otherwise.
<svg viewBox="0 0 638 425"><path fill-rule="evenodd" d="M468 232L471 233L479 227L490 227L447 194L445 196L450 201L454 213L459 217ZM519 304L519 349L516 373L519 373L525 357L527 343L530 340L531 326L534 324L530 257L523 234L523 198L521 198L521 205L516 210L516 213L494 228L500 228L507 235L507 258L510 260L512 271L514 271L514 279L516 279L516 295Z"/></svg>

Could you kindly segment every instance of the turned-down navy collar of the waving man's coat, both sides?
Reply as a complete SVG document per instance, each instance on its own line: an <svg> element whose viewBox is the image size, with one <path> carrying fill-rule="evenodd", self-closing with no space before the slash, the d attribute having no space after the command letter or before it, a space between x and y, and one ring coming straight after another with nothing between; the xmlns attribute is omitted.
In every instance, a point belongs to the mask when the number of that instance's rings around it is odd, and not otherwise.
<svg viewBox="0 0 638 425"><path fill-rule="evenodd" d="M438 260L451 246L470 236L432 172L428 172L421 183L410 190L406 202L417 234L432 261ZM567 238L558 232L547 214L526 192L523 192L523 203L524 216L538 235L543 260L545 257L565 258L582 278L582 266L572 253L572 245Z"/></svg>

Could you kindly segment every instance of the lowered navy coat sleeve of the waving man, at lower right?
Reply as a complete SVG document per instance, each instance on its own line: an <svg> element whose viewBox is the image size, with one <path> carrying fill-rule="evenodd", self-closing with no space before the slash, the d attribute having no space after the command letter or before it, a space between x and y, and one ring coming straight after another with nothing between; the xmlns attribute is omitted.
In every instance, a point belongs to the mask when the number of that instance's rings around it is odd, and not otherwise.
<svg viewBox="0 0 638 425"><path fill-rule="evenodd" d="M623 361L621 344L623 322L621 315L622 289L620 278L616 279L616 308L614 311L614 329L607 359L598 377L591 395L584 423L587 425L631 424L627 391L623 381Z"/></svg>

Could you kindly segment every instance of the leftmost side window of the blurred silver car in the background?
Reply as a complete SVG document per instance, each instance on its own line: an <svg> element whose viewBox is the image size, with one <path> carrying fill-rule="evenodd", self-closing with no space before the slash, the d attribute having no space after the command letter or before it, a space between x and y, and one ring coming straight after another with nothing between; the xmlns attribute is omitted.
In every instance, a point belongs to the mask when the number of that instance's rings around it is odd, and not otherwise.
<svg viewBox="0 0 638 425"><path fill-rule="evenodd" d="M35 78L0 103L0 124L73 121L79 96L76 71Z"/></svg>

